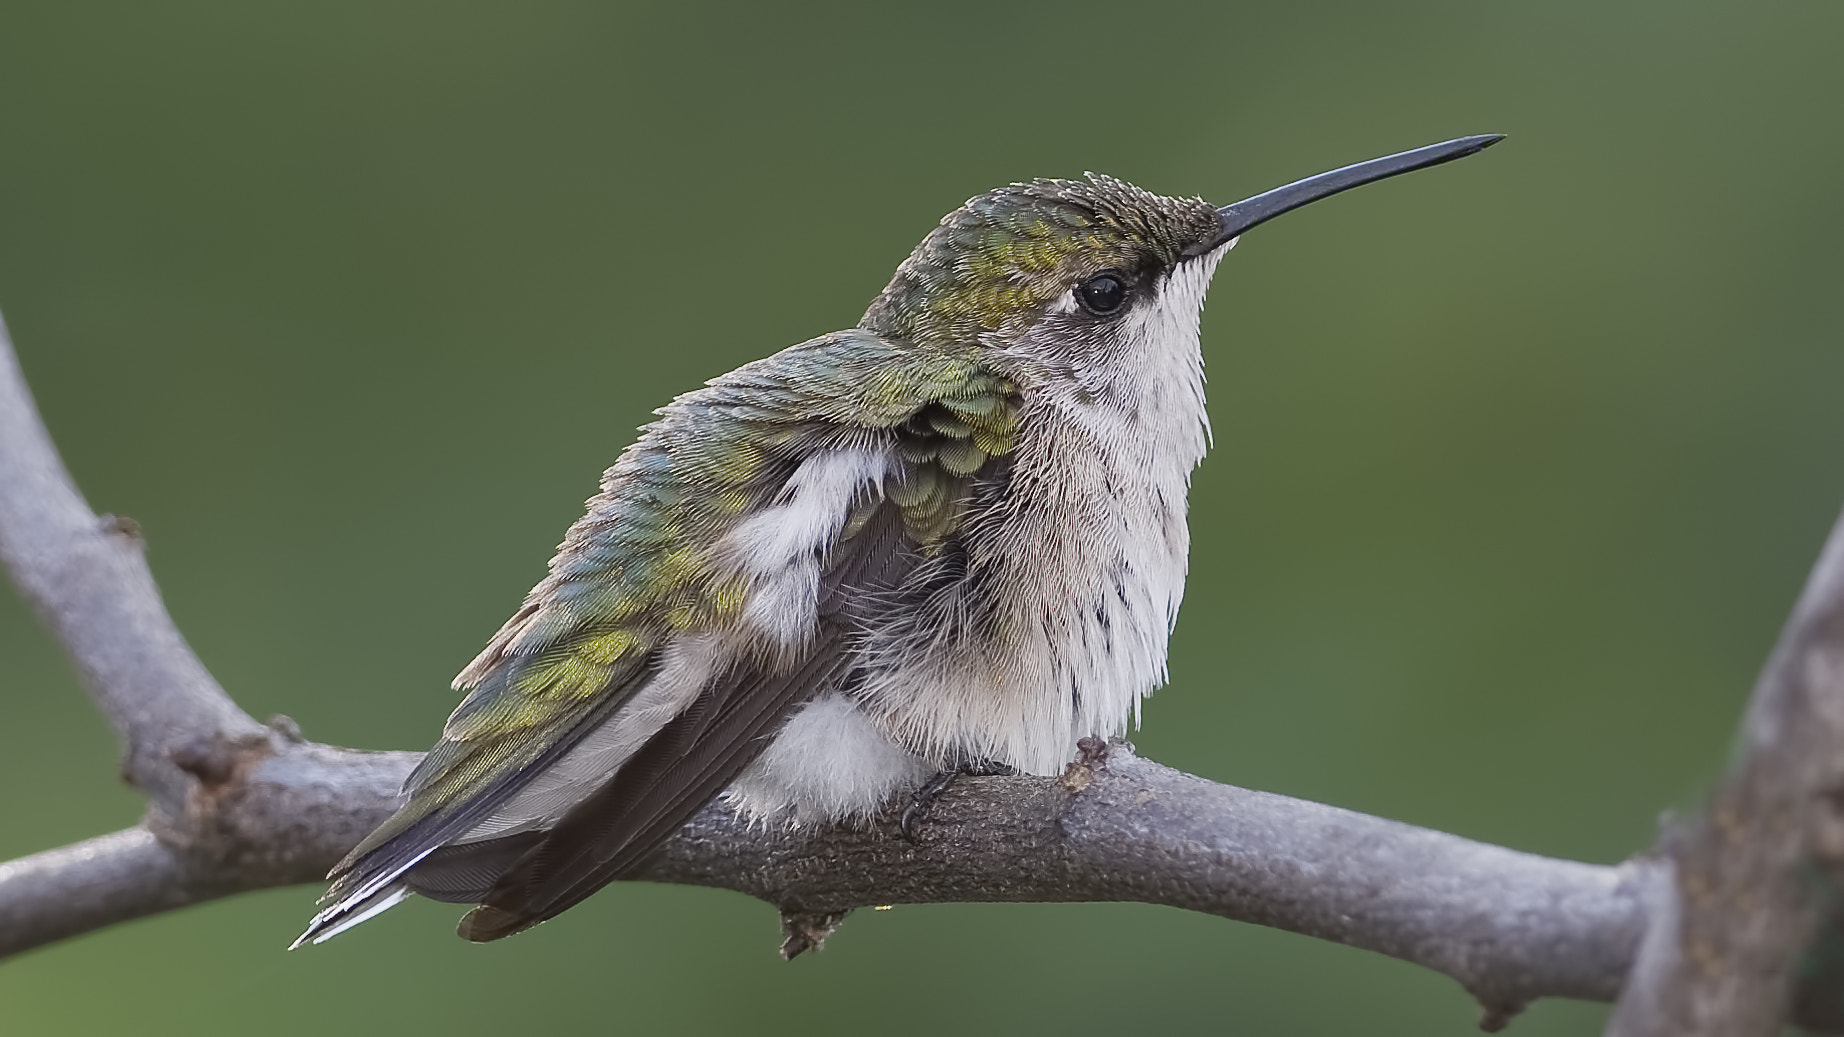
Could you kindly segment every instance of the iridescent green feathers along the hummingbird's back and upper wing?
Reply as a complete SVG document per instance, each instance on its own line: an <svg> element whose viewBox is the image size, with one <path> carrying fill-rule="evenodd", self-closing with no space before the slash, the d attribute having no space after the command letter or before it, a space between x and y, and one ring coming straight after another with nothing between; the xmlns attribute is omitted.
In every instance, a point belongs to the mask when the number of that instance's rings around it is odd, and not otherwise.
<svg viewBox="0 0 1844 1037"><path fill-rule="evenodd" d="M970 356L850 330L739 367L658 413L603 476L550 576L455 679L467 697L406 784L409 801L347 865L516 786L638 690L675 633L728 622L745 590L714 565L712 544L773 504L815 452L889 441L902 474L887 495L911 539L939 546L968 480L1011 454L1018 397Z"/></svg>

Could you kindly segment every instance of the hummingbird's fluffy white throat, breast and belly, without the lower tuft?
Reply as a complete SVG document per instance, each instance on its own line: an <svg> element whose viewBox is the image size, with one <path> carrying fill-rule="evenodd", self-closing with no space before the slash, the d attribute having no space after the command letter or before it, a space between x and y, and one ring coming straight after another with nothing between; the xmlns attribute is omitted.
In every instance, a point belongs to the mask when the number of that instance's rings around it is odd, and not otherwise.
<svg viewBox="0 0 1844 1037"><path fill-rule="evenodd" d="M867 710L896 742L937 766L1053 775L1077 740L1125 734L1164 683L1210 445L1199 316L1226 251L1154 286L1071 386L1027 395L1007 500L968 522L970 566L998 574L998 629L872 679Z"/></svg>

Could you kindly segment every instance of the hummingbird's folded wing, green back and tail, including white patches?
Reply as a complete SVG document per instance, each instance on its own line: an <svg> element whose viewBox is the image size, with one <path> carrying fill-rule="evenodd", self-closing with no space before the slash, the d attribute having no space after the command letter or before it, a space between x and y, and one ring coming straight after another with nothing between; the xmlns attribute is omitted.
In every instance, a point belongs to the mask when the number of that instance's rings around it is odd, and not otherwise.
<svg viewBox="0 0 1844 1037"><path fill-rule="evenodd" d="M1001 378L867 332L664 408L455 679L406 805L334 869L302 939L406 891L481 904L463 936L496 939L631 869L850 683L856 633L953 537L1014 426Z"/></svg>

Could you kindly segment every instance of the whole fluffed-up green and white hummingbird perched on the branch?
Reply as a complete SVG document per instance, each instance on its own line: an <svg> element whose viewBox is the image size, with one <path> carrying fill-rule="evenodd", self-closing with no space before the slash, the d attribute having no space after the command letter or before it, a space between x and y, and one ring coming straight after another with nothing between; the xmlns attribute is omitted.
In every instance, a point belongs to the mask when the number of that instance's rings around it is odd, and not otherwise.
<svg viewBox="0 0 1844 1037"><path fill-rule="evenodd" d="M1123 736L1184 594L1217 264L1283 212L1501 138L1224 207L1090 173L950 212L857 327L655 411L295 947L409 893L500 939L717 797L863 821Z"/></svg>

